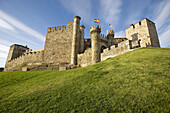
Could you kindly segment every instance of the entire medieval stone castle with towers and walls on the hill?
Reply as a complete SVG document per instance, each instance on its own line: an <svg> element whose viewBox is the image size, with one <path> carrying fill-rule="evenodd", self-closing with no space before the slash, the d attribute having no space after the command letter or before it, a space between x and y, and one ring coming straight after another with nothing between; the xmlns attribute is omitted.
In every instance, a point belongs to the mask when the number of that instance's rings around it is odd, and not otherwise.
<svg viewBox="0 0 170 113"><path fill-rule="evenodd" d="M91 39L84 39L81 18L66 26L48 28L43 49L10 46L4 71L66 70L85 67L138 47L160 47L155 23L147 18L126 29L126 38L114 38L114 31L101 33L101 27L90 28Z"/></svg>

